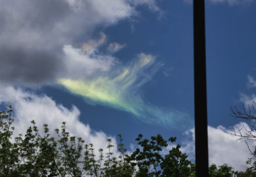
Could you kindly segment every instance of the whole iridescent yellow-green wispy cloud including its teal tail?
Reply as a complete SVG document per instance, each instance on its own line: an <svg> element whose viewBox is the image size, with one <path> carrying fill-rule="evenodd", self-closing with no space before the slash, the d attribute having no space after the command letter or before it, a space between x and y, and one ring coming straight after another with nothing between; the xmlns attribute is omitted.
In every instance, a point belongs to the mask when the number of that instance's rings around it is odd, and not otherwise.
<svg viewBox="0 0 256 177"><path fill-rule="evenodd" d="M161 110L145 103L138 95L138 88L150 80L159 67L161 64L155 62L155 57L141 53L138 60L118 71L83 80L62 78L58 83L73 94L83 96L86 101L127 111L149 124L176 127L182 123L190 126L191 120L186 113ZM150 74L146 74L145 70Z"/></svg>

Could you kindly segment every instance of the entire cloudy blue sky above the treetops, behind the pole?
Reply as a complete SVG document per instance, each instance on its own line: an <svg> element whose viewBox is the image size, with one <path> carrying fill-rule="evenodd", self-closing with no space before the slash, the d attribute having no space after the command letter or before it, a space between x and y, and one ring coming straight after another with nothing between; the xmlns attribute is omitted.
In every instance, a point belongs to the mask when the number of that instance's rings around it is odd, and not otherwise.
<svg viewBox="0 0 256 177"><path fill-rule="evenodd" d="M193 4L189 0L0 0L0 106L106 148L122 134L177 137L195 160ZM256 2L205 1L209 162L246 169L246 127L230 106L256 101ZM255 144L250 143L250 146ZM170 144L164 149L168 152Z"/></svg>

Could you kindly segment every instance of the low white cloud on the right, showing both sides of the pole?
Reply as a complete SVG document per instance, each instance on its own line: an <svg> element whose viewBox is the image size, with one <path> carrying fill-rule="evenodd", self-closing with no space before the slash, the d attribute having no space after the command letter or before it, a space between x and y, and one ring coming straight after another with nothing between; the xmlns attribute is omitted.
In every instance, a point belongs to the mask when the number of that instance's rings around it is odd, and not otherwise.
<svg viewBox="0 0 256 177"><path fill-rule="evenodd" d="M221 166L223 164L228 164L229 166L234 167L237 171L244 171L247 168L246 161L248 158L252 157L252 155L243 140L237 141L237 139L239 139L237 136L230 135L234 134L234 129L241 129L242 134L246 133L246 129L248 131L251 130L249 125L245 122L240 122L239 124L228 128L221 125L218 127L208 126L210 165L216 164L216 166ZM184 135L186 140L182 143L181 151L187 153L189 159L195 160L195 129L189 129ZM252 141L247 141L247 143L253 150L256 143ZM171 147L171 145L168 146L168 149Z"/></svg>

